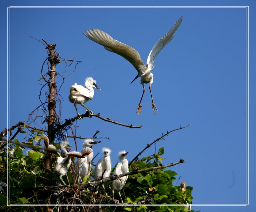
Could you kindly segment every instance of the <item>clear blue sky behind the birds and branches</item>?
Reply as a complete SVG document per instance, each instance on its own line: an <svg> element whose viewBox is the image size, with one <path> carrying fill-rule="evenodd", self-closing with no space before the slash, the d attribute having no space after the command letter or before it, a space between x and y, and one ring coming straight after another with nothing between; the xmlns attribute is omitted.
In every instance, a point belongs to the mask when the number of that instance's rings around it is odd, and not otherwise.
<svg viewBox="0 0 256 212"><path fill-rule="evenodd" d="M25 4L26 3L26 4ZM144 4L145 3L145 4ZM173 5L172 2L161 5ZM1 2L1 58L3 59L1 129L6 127L6 7L14 5L70 5L70 1L51 4L50 1ZM84 5L76 1L74 5ZM89 5L89 4L86 4ZM95 4L91 4L95 5ZM98 2L97 5L106 5ZM108 5L121 5L110 1ZM135 1L129 4L138 5ZM139 5L159 5L144 1ZM176 5L206 5L205 1L183 1ZM250 6L250 205L247 207L194 207L194 210L253 211L255 198L255 3L254 1L207 1L207 5ZM28 114L40 105L41 66L46 58L44 46L31 39L45 39L56 43L60 56L82 61L76 71L65 79L60 94L61 118L76 116L68 101L69 88L75 82L84 84L87 76L97 80L101 91L95 90L93 100L86 105L103 117L125 124L142 125L130 129L101 121L96 117L77 121L76 135L110 137L94 146L94 154L103 146L112 149L112 166L120 150L129 152L131 160L148 143L167 130L191 123L156 143L156 152L164 146L164 164L186 162L171 168L182 176L182 181L193 186L194 204L246 203L246 144L248 147L248 79L246 80L246 9L244 8L149 8L149 9L11 9L10 27L10 124L27 121ZM152 93L158 112L152 112L148 84L142 100L142 114L136 108L143 91L140 79L130 85L137 75L124 58L106 51L101 45L86 38L82 32L99 28L116 40L135 48L146 63L156 41L184 15L173 40L156 58L153 69ZM248 20L247 20L248 21ZM248 46L247 46L248 48ZM247 55L248 56L248 55ZM68 72L65 64L57 71ZM60 88L60 78L57 78ZM247 87L246 87L247 85ZM246 96L247 90L247 96ZM246 101L247 100L247 101ZM247 104L247 108L246 108ZM78 105L82 114L84 109ZM248 126L247 126L248 127ZM70 134L71 135L71 132ZM25 136L24 136L25 137ZM20 137L20 139L24 139ZM247 138L247 140L246 140ZM70 139L72 143L72 139ZM82 140L78 140L78 149ZM143 156L155 152L149 148ZM248 154L248 148L247 148ZM247 166L248 169L248 166ZM181 181L180 181L181 182ZM179 182L179 183L180 183ZM175 183L174 183L175 184ZM248 198L248 194L247 194Z"/></svg>

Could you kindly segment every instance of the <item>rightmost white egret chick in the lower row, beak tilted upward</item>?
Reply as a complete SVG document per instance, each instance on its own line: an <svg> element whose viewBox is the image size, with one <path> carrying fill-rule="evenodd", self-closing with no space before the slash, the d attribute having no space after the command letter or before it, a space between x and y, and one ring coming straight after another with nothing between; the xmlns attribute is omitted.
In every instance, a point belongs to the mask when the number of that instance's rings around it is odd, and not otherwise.
<svg viewBox="0 0 256 212"><path fill-rule="evenodd" d="M120 175L126 172L129 172L129 168L128 168L128 161L125 158L126 155L128 154L128 152L120 151L118 153L118 157L119 157L119 163L116 165L116 169L113 171L113 176L114 175ZM124 177L119 177L117 180L113 180L112 182L112 193L113 193L113 199L114 199L114 193L118 192L119 197L122 201L122 204L124 203L120 194L120 190L124 187L126 180L127 180L128 176L124 176Z"/></svg>

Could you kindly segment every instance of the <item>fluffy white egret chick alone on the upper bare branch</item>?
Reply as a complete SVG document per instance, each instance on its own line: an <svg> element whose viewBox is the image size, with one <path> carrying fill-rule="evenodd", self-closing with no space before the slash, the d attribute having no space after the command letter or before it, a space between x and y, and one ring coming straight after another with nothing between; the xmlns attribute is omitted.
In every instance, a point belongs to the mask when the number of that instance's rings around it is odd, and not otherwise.
<svg viewBox="0 0 256 212"><path fill-rule="evenodd" d="M78 113L76 103L82 105L85 107L89 113L93 114L92 111L84 105L84 103L88 102L89 100L92 100L92 97L94 95L93 88L97 88L101 90L96 85L96 80L92 79L92 77L87 77L83 85L71 85L71 88L69 90L69 101L74 103L74 106L76 108L77 116L79 119L81 119L81 114Z"/></svg>

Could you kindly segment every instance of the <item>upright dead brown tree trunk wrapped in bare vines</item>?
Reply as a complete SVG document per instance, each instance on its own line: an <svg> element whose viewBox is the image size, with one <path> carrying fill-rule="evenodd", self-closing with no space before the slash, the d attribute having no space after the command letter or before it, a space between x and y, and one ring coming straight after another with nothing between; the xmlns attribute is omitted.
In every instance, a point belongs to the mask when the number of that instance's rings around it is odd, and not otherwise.
<svg viewBox="0 0 256 212"><path fill-rule="evenodd" d="M53 132L53 128L55 125L55 118L56 118L56 94L57 94L57 88L56 88L56 82L55 78L57 73L55 72L56 65L60 62L58 59L58 55L56 55L56 45L55 44L48 44L44 39L43 41L47 44L46 49L48 49L48 61L50 62L50 70L48 71L48 75L50 76L50 80L48 82L49 86L49 93L48 93L48 117L47 117L47 123L48 123L48 137L49 137L49 143L53 144L55 133ZM46 153L45 156L45 177L48 180L45 180L44 185L51 185L52 180L52 164L54 163L54 158L51 153Z"/></svg>

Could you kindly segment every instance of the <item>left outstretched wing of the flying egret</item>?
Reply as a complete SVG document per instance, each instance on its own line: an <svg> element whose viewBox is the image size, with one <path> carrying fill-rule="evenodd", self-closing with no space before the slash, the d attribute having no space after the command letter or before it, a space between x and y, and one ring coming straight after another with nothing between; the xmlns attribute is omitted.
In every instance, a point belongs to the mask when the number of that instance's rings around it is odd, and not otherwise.
<svg viewBox="0 0 256 212"><path fill-rule="evenodd" d="M136 68L138 72L139 66L144 65L144 63L140 59L140 54L138 51L136 51L130 46L127 46L124 43L115 40L106 32L103 32L100 29L89 29L85 30L85 32L87 34L83 34L86 37L90 38L92 41L104 46L106 50L119 54L125 59L127 59L130 63L132 63L132 65Z"/></svg>

